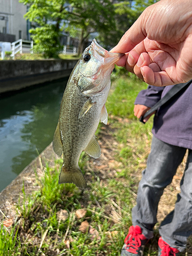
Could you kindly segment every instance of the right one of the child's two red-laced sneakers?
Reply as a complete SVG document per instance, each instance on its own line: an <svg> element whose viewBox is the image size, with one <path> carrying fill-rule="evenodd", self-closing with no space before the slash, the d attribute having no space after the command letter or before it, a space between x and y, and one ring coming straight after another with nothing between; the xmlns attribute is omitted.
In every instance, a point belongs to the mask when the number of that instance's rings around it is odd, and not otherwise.
<svg viewBox="0 0 192 256"><path fill-rule="evenodd" d="M158 245L158 256L179 256L180 254L178 249L170 247L161 237L159 238Z"/></svg>

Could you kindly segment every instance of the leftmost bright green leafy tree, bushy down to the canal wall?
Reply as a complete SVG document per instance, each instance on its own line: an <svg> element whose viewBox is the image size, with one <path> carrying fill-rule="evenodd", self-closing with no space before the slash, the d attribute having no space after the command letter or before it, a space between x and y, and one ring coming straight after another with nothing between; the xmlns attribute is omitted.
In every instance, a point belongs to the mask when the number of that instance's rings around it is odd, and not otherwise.
<svg viewBox="0 0 192 256"><path fill-rule="evenodd" d="M61 0L20 0L29 5L25 17L32 22L30 33L36 45L34 51L43 53L45 57L55 57L61 50L60 37L62 19L66 18L64 4Z"/></svg>

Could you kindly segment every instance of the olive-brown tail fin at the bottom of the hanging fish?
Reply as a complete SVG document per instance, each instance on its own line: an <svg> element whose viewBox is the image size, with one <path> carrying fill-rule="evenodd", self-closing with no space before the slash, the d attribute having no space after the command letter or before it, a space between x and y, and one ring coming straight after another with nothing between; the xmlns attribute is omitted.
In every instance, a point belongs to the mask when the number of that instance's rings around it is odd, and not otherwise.
<svg viewBox="0 0 192 256"><path fill-rule="evenodd" d="M74 183L77 187L86 188L87 183L80 168L75 167L70 170L66 170L65 166L61 167L61 172L59 176L59 184L61 183Z"/></svg>

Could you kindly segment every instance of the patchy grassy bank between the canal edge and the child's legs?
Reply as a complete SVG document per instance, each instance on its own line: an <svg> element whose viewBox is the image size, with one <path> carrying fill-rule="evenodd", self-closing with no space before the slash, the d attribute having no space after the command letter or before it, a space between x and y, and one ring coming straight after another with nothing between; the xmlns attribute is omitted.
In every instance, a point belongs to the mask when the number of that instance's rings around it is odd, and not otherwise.
<svg viewBox="0 0 192 256"><path fill-rule="evenodd" d="M37 189L29 195L23 187L17 224L9 231L1 226L0 248L6 246L7 254L0 255L120 255L150 152L152 120L143 125L133 115L135 97L145 88L133 76L113 77L106 103L109 122L99 124L96 133L101 157L82 153L79 159L88 189L58 184L62 159L36 170ZM144 255L157 255L157 227Z"/></svg>

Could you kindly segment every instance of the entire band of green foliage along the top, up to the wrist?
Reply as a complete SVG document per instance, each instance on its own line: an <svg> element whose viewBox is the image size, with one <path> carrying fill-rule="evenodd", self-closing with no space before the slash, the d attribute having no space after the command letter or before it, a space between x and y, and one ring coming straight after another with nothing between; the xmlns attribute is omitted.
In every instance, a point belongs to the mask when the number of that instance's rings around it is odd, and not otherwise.
<svg viewBox="0 0 192 256"><path fill-rule="evenodd" d="M20 0L29 5L25 17L30 20L34 51L45 57L56 57L61 51L62 32L79 39L78 55L82 53L91 33L106 49L115 46L141 12L158 0Z"/></svg>

